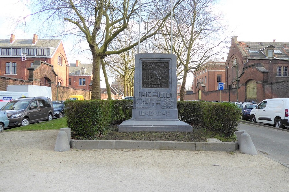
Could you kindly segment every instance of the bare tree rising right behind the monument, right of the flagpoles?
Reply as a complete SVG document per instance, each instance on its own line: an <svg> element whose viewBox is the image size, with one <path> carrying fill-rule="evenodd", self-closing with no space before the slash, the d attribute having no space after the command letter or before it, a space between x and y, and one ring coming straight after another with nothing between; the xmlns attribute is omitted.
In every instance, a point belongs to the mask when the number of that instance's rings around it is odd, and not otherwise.
<svg viewBox="0 0 289 192"><path fill-rule="evenodd" d="M177 56L177 80L182 80L180 100L184 100L187 75L216 58L227 48L226 26L215 14L214 0L187 0L174 10L173 53ZM170 51L171 23L166 22L160 49ZM160 36L159 36L160 37Z"/></svg>

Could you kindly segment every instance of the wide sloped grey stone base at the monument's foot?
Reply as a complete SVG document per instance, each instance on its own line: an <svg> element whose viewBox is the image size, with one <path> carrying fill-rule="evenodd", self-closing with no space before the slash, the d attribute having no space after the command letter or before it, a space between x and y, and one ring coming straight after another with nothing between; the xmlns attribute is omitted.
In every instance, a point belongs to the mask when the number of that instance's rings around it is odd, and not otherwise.
<svg viewBox="0 0 289 192"><path fill-rule="evenodd" d="M192 132L188 123L179 119L129 119L118 126L118 132Z"/></svg>

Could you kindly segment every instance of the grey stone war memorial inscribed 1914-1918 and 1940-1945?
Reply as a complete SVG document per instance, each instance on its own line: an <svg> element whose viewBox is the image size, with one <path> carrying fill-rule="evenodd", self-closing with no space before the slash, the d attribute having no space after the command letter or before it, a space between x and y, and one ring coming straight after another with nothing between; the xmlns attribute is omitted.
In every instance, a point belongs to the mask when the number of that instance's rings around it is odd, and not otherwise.
<svg viewBox="0 0 289 192"><path fill-rule="evenodd" d="M192 126L178 119L176 56L136 54L132 118L118 132L191 132Z"/></svg>

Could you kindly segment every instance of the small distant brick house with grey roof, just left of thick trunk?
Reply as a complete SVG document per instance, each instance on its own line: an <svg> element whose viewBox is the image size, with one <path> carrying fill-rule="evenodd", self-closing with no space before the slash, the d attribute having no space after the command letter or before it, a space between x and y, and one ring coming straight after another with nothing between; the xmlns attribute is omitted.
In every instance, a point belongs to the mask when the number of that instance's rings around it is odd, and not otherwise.
<svg viewBox="0 0 289 192"><path fill-rule="evenodd" d="M69 87L83 90L92 89L92 63L83 64L79 60L69 66Z"/></svg>

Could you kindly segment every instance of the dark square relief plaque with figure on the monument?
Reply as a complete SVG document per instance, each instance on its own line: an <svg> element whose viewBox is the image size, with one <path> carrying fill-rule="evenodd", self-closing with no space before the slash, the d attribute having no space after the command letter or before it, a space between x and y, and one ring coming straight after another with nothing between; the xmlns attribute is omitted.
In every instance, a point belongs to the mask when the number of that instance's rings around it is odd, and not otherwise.
<svg viewBox="0 0 289 192"><path fill-rule="evenodd" d="M168 88L168 62L142 62L143 88Z"/></svg>

